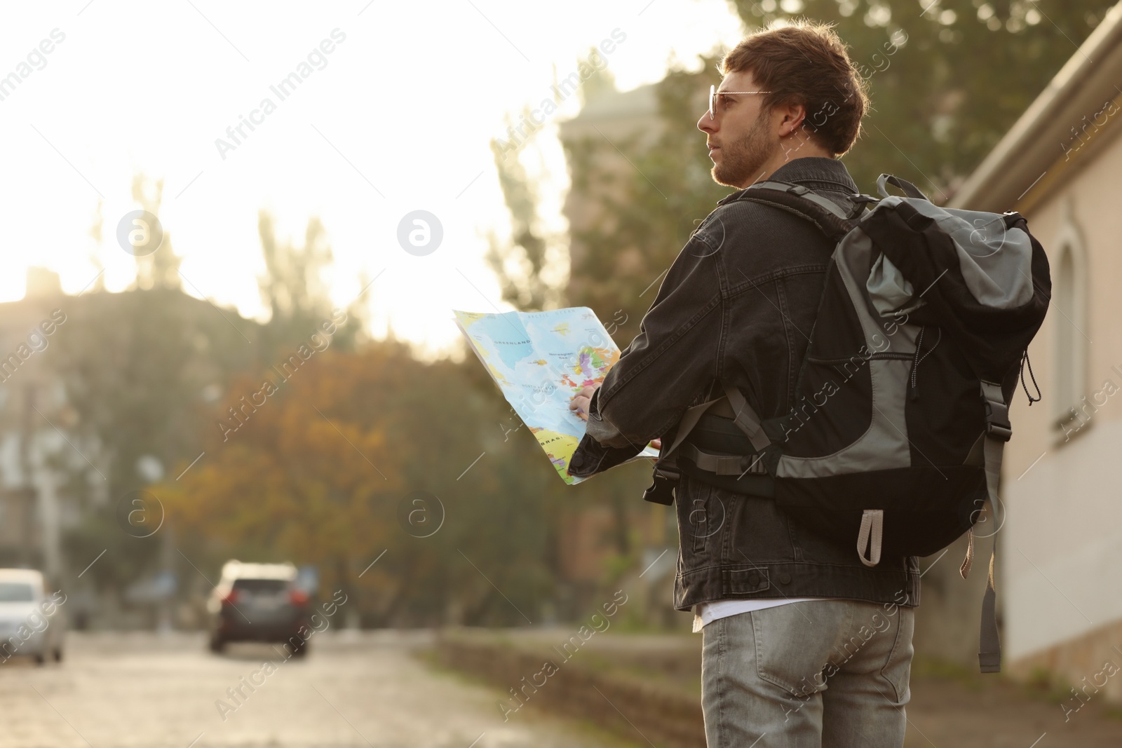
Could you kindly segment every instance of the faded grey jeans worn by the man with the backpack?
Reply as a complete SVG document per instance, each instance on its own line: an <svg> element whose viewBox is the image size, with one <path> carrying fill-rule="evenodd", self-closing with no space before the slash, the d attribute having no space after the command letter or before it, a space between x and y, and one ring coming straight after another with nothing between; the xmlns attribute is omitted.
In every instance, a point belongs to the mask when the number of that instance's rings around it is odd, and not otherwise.
<svg viewBox="0 0 1122 748"><path fill-rule="evenodd" d="M702 629L709 748L900 748L916 611L813 600Z"/></svg>

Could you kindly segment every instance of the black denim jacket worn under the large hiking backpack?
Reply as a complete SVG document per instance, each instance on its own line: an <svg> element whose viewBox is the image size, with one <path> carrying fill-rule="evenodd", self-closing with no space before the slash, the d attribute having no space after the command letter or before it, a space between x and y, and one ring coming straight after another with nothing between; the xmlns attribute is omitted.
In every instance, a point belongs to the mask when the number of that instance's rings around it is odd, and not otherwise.
<svg viewBox="0 0 1122 748"><path fill-rule="evenodd" d="M853 207L857 186L838 160L795 158L770 179ZM592 397L573 475L603 472L686 409L741 388L762 418L790 409L833 243L808 221L757 203L717 203L674 260L659 295ZM683 475L674 491L680 552L674 607L735 598L838 597L919 604L913 556L864 566L856 550L792 523L771 499ZM637 498L637 492L636 492Z"/></svg>

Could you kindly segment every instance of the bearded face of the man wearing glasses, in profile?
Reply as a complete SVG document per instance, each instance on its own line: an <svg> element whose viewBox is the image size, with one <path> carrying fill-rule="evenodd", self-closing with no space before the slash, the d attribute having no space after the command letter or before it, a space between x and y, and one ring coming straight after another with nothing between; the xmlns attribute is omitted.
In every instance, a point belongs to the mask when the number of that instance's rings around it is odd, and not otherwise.
<svg viewBox="0 0 1122 748"><path fill-rule="evenodd" d="M708 136L712 178L729 187L746 187L764 176L764 165L780 150L779 136L772 132L769 112L763 111L761 94L727 94L721 91L760 91L752 73L730 73L717 86L714 118L707 111L698 129Z"/></svg>

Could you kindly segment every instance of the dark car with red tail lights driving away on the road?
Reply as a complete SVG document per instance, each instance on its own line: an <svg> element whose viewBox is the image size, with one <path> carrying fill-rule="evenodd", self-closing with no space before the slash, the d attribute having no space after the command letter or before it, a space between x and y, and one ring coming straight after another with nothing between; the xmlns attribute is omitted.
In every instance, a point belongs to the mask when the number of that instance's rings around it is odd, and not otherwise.
<svg viewBox="0 0 1122 748"><path fill-rule="evenodd" d="M211 652L222 652L230 641L277 641L288 644L294 656L305 655L307 641L300 631L307 626L309 595L295 582L291 563L226 562L206 601Z"/></svg>

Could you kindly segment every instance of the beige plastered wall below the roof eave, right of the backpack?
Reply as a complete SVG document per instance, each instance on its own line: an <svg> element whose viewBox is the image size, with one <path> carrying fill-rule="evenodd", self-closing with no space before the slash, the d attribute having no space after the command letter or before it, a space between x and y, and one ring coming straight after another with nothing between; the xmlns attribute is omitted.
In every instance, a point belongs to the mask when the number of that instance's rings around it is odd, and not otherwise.
<svg viewBox="0 0 1122 748"><path fill-rule="evenodd" d="M1056 283L1060 243L1078 236L1085 285L1076 289L1085 315L1049 307L1029 348L1043 400L1028 407L1014 397L1013 440L1003 470L1008 524L1000 534L1006 659L1048 664L1078 682L1104 659L1122 664L1110 631L1122 622L1122 139L1096 144L1082 164L1060 158L1056 187L1026 211L1029 228L1048 252ZM1057 154L1060 153L1057 146ZM1078 274L1077 274L1078 277ZM1074 318L1068 318L1074 317ZM1065 441L1054 427L1057 349L1072 335L1085 351L1077 399L1104 403ZM1079 347L1077 347L1078 350ZM1116 367L1116 370L1112 367ZM1026 372L1028 376L1028 372ZM1112 390L1102 390L1110 380ZM1031 386L1031 382L1030 382ZM1003 589L1002 589L1003 588ZM1063 656L1064 648L1078 656ZM1070 654L1070 653L1069 653ZM1089 669L1088 669L1089 668ZM1085 671L1085 672L1083 672Z"/></svg>

